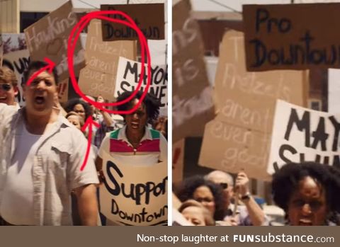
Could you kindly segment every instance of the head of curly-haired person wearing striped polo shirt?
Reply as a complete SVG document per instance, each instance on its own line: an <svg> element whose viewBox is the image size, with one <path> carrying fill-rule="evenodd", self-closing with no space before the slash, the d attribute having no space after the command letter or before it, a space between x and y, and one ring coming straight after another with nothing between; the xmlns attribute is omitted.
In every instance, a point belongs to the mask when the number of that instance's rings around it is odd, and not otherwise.
<svg viewBox="0 0 340 247"><path fill-rule="evenodd" d="M132 92L125 91L117 98L117 102L123 101L129 98L132 95ZM137 94L129 100L128 103L118 105L117 110L125 111L130 110L135 107L140 102L140 98L142 98L142 92L138 91ZM130 114L123 114L125 124L127 126L127 130L129 132L142 133L145 131L145 127L147 123L152 124L157 117L159 116L159 100L156 96L151 93L147 93L144 100L138 106L137 110Z"/></svg>

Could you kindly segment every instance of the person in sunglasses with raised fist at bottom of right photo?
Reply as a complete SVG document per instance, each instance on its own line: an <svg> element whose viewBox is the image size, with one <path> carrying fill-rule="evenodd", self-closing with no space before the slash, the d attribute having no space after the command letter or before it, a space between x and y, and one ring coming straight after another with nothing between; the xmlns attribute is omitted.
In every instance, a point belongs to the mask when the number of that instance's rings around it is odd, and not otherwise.
<svg viewBox="0 0 340 247"><path fill-rule="evenodd" d="M263 226L269 224L268 217L249 193L249 178L244 171L237 174L235 186L232 176L224 171L212 171L205 176L205 179L220 185L223 189L226 208L225 222L232 226ZM235 207L232 203L236 201L235 197L238 197L238 200L242 201L244 205Z"/></svg>

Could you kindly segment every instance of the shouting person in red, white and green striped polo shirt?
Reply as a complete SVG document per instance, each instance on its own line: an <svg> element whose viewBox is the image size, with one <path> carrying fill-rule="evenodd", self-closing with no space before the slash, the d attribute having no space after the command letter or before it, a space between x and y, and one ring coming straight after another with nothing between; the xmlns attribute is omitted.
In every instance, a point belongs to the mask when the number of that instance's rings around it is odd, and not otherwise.
<svg viewBox="0 0 340 247"><path fill-rule="evenodd" d="M132 95L132 92L121 94L117 101L121 102ZM161 161L167 161L167 142L157 130L147 126L159 115L159 101L152 94L147 93L140 103L142 92L138 92L128 103L118 105L117 110L137 109L130 114L122 115L125 125L123 128L107 134L103 139L96 159L96 167L100 179L108 181L110 178L103 173L103 159L110 159L119 166L154 166ZM105 175L104 175L105 174ZM118 222L106 222L115 225Z"/></svg>

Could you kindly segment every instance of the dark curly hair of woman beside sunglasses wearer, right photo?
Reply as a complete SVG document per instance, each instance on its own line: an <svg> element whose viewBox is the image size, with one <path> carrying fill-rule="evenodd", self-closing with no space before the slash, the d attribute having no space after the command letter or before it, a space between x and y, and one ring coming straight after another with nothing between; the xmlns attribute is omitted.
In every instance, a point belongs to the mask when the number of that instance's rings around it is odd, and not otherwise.
<svg viewBox="0 0 340 247"><path fill-rule="evenodd" d="M226 214L225 197L223 196L223 190L219 185L205 180L203 176L192 176L183 180L183 183L180 185L176 195L177 197L179 197L179 200L181 200L181 202L185 202L186 200L193 199L193 193L197 188L201 186L208 187L212 195L214 196L214 219L223 220Z"/></svg>

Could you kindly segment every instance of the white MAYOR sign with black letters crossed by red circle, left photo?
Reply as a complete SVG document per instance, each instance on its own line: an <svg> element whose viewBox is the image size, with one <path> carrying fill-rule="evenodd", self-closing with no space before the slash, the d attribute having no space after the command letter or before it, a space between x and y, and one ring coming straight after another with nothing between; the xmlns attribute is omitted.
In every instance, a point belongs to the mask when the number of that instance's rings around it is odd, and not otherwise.
<svg viewBox="0 0 340 247"><path fill-rule="evenodd" d="M119 58L117 79L115 84L115 97L125 91L135 91L137 88L140 74L142 71L142 64L124 57ZM147 73L147 66L145 65L145 73ZM140 91L144 91L147 85L147 74L143 78L143 83ZM168 106L168 67L166 65L152 65L151 67L151 83L149 93L156 96L161 102L161 110ZM166 111L165 111L166 113ZM167 114L166 114L167 115Z"/></svg>

